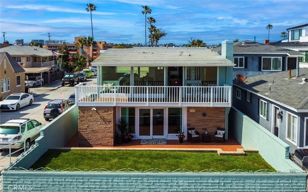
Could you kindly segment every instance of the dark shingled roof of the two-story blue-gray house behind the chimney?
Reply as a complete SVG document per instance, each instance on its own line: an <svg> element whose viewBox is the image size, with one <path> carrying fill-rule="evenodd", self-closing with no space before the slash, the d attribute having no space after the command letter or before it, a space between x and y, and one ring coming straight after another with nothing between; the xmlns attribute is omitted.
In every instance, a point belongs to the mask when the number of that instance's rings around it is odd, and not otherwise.
<svg viewBox="0 0 308 192"><path fill-rule="evenodd" d="M213 50L216 52L221 52L221 46L214 48ZM288 54L288 56L293 56L293 57L303 56L303 54L299 51L284 49L281 47L273 46L273 44L267 45L249 40L234 43L233 54L239 54L239 53L255 53L255 54L282 53L282 54Z"/></svg>

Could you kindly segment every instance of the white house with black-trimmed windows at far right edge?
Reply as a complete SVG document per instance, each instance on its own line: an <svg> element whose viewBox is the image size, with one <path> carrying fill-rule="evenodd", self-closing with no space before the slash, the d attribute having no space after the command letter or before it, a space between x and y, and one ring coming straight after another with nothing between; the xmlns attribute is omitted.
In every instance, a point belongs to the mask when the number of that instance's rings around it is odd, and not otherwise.
<svg viewBox="0 0 308 192"><path fill-rule="evenodd" d="M308 67L308 23L286 30L289 32L288 39L272 42L270 45L302 52L304 56L299 58L299 67Z"/></svg>

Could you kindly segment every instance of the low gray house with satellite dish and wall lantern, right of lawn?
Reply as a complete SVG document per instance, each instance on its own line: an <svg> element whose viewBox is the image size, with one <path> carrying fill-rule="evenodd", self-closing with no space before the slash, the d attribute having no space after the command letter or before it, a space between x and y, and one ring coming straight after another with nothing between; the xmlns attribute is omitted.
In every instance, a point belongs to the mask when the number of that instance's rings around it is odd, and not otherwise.
<svg viewBox="0 0 308 192"><path fill-rule="evenodd" d="M233 80L232 105L290 145L308 149L308 68ZM274 82L274 83L273 83ZM279 118L279 115L282 117Z"/></svg>

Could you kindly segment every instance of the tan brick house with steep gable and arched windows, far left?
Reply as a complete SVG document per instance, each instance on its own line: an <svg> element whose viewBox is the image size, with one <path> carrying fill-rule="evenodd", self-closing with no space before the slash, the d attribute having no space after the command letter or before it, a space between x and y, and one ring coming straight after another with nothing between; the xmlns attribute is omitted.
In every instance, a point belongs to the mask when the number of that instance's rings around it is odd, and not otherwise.
<svg viewBox="0 0 308 192"><path fill-rule="evenodd" d="M25 92L25 70L6 52L0 53L0 61L2 101L10 94Z"/></svg>

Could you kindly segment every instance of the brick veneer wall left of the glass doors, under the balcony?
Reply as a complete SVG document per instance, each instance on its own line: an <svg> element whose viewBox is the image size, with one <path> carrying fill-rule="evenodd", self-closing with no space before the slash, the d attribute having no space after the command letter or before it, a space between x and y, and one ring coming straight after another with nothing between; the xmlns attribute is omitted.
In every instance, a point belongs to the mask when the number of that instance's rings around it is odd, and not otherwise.
<svg viewBox="0 0 308 192"><path fill-rule="evenodd" d="M113 146L115 135L115 107L79 106L79 147Z"/></svg>

